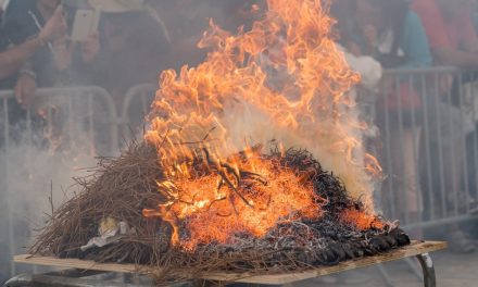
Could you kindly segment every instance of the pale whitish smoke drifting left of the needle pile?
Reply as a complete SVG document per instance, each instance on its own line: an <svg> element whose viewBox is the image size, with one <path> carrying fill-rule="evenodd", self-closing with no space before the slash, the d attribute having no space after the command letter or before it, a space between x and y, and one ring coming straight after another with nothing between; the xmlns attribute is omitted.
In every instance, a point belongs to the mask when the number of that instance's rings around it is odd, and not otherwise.
<svg viewBox="0 0 478 287"><path fill-rule="evenodd" d="M86 148L89 145L85 140L91 138L86 130L73 128L66 133L66 128L61 127L61 123L68 122L67 118L54 122L50 129L33 125L28 132L25 123L18 123L10 128L8 140L4 138L7 134L2 133L1 279L28 271L25 266L12 265L11 258L27 252L52 209L79 190L74 177L87 175L86 167L95 166L97 162L91 150ZM52 129L56 128L53 133Z"/></svg>

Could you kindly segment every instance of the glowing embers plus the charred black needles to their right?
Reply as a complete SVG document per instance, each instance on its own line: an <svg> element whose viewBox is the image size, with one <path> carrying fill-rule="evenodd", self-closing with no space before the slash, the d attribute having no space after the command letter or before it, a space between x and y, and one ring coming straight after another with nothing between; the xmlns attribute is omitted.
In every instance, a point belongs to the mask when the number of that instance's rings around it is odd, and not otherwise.
<svg viewBox="0 0 478 287"><path fill-rule="evenodd" d="M160 210L143 210L146 216L173 226L172 244L184 251L199 247L200 252L255 248L309 253L327 249L331 238L351 245L364 235L372 238L397 228L348 198L339 179L306 151L276 147L264 154L256 147L230 157L236 169L211 161L206 150L198 153L189 163L188 180L159 183L166 202Z"/></svg>

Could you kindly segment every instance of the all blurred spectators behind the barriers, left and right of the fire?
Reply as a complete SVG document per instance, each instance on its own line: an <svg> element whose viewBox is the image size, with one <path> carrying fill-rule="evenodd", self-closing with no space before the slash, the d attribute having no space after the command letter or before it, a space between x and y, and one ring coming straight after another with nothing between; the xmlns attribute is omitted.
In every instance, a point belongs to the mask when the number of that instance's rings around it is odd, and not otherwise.
<svg viewBox="0 0 478 287"><path fill-rule="evenodd" d="M11 0L4 1L0 28L0 88L13 89L10 121L23 116L37 87L95 85L105 88L120 107L128 88L141 83L156 83L164 68L178 70L184 64L201 62L205 51L197 49L207 17L226 29L236 29L250 21L255 1L221 0ZM370 65L411 70L435 65L462 68L478 67L478 1L475 0L335 0L331 12L338 20L337 41L349 53L375 59ZM80 41L71 38L75 11L101 12L98 29ZM469 79L470 82L473 79ZM407 80L383 80L377 96L376 122L380 129L400 129L386 145L390 155L394 198L399 207L407 205L399 217L419 221L420 171L414 154L424 140L424 105L439 105L428 114L451 118L451 126L439 126L444 162L445 190L463 190L467 137L475 123L465 123L456 102L437 97L420 97ZM456 79L440 78L442 92L454 92ZM438 101L438 102L437 102ZM432 110L430 110L432 111ZM383 117L391 118L383 127ZM413 121L412 121L413 120ZM455 127L463 133L456 133ZM433 130L431 132L435 133ZM476 142L471 142L476 145ZM451 158L453 157L453 159ZM387 171L386 171L387 173ZM383 191L386 192L386 191ZM395 192L397 194L397 192ZM474 242L458 227L452 230L461 251L475 250ZM419 235L418 235L419 236Z"/></svg>

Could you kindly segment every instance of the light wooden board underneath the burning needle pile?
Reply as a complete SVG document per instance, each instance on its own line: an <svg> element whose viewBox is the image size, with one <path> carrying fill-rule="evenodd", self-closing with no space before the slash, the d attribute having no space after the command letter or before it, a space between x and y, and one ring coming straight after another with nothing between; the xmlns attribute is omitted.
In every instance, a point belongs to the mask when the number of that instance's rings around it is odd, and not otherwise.
<svg viewBox="0 0 478 287"><path fill-rule="evenodd" d="M271 274L271 275L254 275L253 273L210 273L203 276L204 279L218 280L218 282L240 282L250 284L264 284L264 285L282 285L294 283L298 280L304 280L318 276L335 274L354 269L366 267L385 262L401 260L404 258L415 257L423 253L429 253L432 251L446 248L446 242L436 241L414 241L412 245L392 250L390 252L361 258L356 260L349 260L334 266L320 266L305 272L297 273L284 273ZM148 274L151 273L151 269L147 266L139 266L134 264L116 264L116 263L96 263L93 261L86 261L79 259L58 259L52 257L37 257L30 254L16 255L13 258L16 263L35 264L56 266L60 269L81 269L81 270L96 270L105 272L118 272L118 273L138 273ZM158 270L156 270L158 271Z"/></svg>

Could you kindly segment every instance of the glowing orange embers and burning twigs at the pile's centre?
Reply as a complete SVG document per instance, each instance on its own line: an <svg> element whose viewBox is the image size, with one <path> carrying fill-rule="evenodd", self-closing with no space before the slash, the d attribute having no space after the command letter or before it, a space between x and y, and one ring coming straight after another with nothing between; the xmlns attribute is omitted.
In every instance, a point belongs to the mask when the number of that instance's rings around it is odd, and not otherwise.
<svg viewBox="0 0 478 287"><path fill-rule="evenodd" d="M166 198L160 210L143 211L146 216L160 216L174 226L174 245L191 250L198 244L230 244L236 234L263 237L280 222L322 215L326 200L314 192L311 178L316 171L312 166L294 170L277 153L264 155L257 147L226 162L211 159L205 148L196 152L184 164L187 176L177 171L177 179L159 183ZM179 229L188 233L187 239L183 240Z"/></svg>

